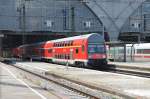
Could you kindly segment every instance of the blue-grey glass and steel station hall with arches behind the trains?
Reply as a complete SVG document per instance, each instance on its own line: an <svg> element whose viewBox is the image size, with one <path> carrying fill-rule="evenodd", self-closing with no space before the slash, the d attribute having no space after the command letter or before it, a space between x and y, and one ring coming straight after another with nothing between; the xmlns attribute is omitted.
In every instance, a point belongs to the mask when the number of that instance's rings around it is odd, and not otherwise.
<svg viewBox="0 0 150 99"><path fill-rule="evenodd" d="M0 0L4 57L23 44L99 33L112 46L150 42L150 0Z"/></svg>

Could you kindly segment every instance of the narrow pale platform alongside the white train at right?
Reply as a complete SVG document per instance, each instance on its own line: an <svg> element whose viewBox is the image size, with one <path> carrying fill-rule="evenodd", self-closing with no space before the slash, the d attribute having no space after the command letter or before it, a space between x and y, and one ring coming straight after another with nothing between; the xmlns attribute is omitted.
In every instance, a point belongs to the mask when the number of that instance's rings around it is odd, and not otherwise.
<svg viewBox="0 0 150 99"><path fill-rule="evenodd" d="M150 72L150 62L108 62L108 64L116 68Z"/></svg>

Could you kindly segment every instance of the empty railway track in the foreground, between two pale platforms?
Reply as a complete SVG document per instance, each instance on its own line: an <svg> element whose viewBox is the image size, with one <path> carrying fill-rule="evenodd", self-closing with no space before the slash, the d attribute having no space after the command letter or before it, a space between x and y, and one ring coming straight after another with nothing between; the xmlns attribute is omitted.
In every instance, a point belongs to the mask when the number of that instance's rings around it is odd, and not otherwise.
<svg viewBox="0 0 150 99"><path fill-rule="evenodd" d="M115 99L119 99L120 96L114 96L111 92L110 95L107 92L95 90L96 88L91 88L91 86L88 85L83 85L80 82L74 82L71 81L70 79L62 78L60 76L54 75L54 74L49 74L46 72L41 72L41 73L35 73L33 71L28 71L26 69L23 69L21 67L11 65L11 62L7 61L7 64L10 66L18 69L21 72L24 72L25 78L34 82L33 79L29 78L38 78L36 81L44 81L41 82L40 86L44 88L45 90L55 90L56 92L58 91L59 93L62 92L65 96L68 96L69 99L111 99L111 97L115 97ZM51 86L55 87L51 87ZM59 86L59 87L58 87ZM56 90L58 89L58 90ZM60 89L62 91L60 92ZM105 96L104 94L107 94L108 96ZM60 97L60 96L58 96ZM122 97L122 96L121 96ZM128 97L128 96L125 96ZM60 99L68 99L68 98L61 98Z"/></svg>

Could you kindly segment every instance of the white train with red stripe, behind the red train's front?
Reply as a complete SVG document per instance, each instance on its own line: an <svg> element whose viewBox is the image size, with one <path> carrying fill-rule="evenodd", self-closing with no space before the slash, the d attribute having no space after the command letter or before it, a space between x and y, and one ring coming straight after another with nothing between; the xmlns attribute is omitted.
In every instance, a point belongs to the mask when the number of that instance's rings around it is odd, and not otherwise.
<svg viewBox="0 0 150 99"><path fill-rule="evenodd" d="M126 58L127 62L150 62L150 43L126 44L125 47L110 47L108 59L124 61Z"/></svg>

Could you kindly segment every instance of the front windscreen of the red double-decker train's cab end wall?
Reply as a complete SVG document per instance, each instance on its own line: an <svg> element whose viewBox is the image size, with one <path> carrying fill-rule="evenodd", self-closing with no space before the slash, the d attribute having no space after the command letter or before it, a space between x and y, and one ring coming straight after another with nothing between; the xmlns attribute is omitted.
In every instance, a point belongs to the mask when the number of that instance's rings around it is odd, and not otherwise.
<svg viewBox="0 0 150 99"><path fill-rule="evenodd" d="M90 44L88 45L88 53L104 53L104 45Z"/></svg>

